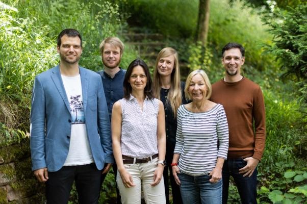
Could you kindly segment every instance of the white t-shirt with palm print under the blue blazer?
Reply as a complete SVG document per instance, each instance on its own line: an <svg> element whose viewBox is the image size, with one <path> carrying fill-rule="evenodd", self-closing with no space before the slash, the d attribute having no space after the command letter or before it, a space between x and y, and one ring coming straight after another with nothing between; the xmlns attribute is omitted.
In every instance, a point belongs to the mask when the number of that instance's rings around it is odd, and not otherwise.
<svg viewBox="0 0 307 204"><path fill-rule="evenodd" d="M75 77L61 75L71 114L69 151L64 166L85 165L94 162L90 149L82 100L80 74Z"/></svg>

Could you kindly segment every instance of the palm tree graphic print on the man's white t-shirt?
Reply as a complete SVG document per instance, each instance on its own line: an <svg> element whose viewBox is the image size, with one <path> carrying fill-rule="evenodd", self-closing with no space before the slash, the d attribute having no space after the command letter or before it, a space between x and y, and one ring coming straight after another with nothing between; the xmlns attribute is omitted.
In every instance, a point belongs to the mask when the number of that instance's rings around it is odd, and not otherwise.
<svg viewBox="0 0 307 204"><path fill-rule="evenodd" d="M71 124L85 123L84 108L81 95L71 95L69 100L70 114L72 118Z"/></svg>

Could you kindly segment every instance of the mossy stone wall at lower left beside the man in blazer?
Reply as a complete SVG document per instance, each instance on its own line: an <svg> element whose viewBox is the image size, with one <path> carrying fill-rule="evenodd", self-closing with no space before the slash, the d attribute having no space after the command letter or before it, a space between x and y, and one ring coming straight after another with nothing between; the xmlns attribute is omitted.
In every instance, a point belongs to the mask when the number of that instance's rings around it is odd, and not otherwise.
<svg viewBox="0 0 307 204"><path fill-rule="evenodd" d="M44 203L44 185L31 171L30 141L0 147L0 203Z"/></svg>

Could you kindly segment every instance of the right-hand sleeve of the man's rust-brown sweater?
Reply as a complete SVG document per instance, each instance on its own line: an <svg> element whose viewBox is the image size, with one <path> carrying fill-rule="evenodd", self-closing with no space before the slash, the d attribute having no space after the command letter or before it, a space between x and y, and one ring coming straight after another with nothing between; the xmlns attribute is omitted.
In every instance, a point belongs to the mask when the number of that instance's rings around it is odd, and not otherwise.
<svg viewBox="0 0 307 204"><path fill-rule="evenodd" d="M255 126L255 146L252 157L261 161L265 147L266 126L264 98L260 87L255 90L253 97L254 103L252 111Z"/></svg>

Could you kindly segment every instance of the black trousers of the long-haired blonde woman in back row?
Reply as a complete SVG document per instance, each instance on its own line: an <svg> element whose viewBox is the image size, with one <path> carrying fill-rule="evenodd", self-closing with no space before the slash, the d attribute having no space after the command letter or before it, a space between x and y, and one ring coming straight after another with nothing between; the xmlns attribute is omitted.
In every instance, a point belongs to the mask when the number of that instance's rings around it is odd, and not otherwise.
<svg viewBox="0 0 307 204"><path fill-rule="evenodd" d="M166 203L169 204L169 182L168 182L168 171L169 171L170 185L172 188L172 195L173 195L173 203L182 204L180 187L175 182L172 168L170 166L173 160L174 149L175 149L175 144L166 143L165 161L167 164L164 167L163 171L165 198L166 198Z"/></svg>

